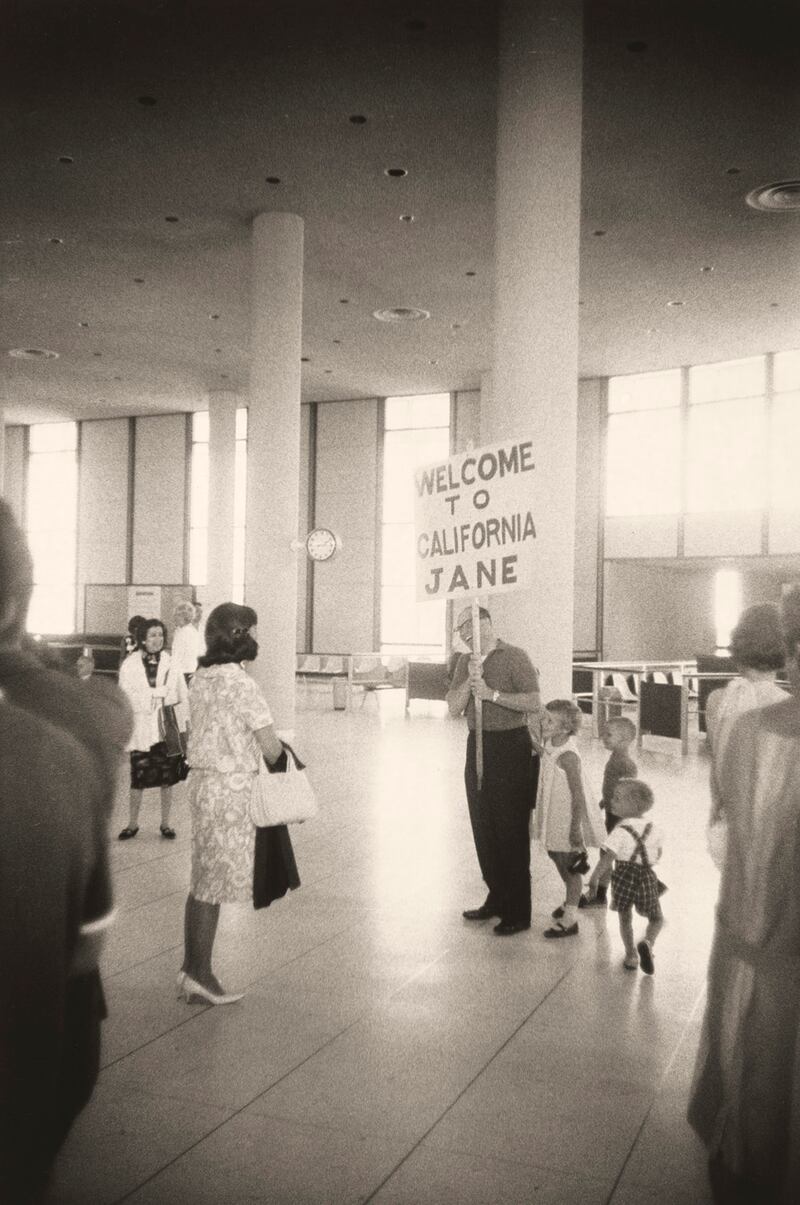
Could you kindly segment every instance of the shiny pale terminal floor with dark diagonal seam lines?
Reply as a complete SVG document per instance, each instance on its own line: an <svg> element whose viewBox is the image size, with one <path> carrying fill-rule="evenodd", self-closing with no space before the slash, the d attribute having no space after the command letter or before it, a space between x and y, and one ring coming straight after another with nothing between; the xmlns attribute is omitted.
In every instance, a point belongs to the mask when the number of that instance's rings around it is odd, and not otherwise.
<svg viewBox="0 0 800 1205"><path fill-rule="evenodd" d="M99 1205L704 1205L684 1116L717 893L704 739L646 740L669 884L655 975L623 970L614 913L542 937L561 893L536 850L530 933L461 919L483 899L463 793L464 730L399 692L331 710L301 692L296 746L322 799L293 830L302 886L223 909L216 965L245 999L176 999L189 874L146 794L113 841L118 919L94 1097L47 1198ZM599 787L605 751L581 747ZM124 803L114 834L125 822Z"/></svg>

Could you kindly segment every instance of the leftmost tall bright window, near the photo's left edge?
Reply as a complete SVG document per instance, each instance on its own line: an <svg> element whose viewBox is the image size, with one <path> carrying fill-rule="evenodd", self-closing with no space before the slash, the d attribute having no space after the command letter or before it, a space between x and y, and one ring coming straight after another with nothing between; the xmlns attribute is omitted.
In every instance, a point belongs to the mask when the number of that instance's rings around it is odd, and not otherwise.
<svg viewBox="0 0 800 1205"><path fill-rule="evenodd" d="M75 631L78 522L77 423L30 428L27 533L34 558L29 631Z"/></svg>

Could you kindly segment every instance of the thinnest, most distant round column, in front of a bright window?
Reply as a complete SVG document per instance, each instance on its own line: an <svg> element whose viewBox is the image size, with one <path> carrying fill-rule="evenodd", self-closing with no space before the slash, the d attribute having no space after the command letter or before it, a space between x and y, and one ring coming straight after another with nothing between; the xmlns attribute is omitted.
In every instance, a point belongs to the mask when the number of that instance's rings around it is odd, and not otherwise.
<svg viewBox="0 0 800 1205"><path fill-rule="evenodd" d="M230 602L234 588L234 472L236 447L235 393L208 394L208 581L202 610Z"/></svg>

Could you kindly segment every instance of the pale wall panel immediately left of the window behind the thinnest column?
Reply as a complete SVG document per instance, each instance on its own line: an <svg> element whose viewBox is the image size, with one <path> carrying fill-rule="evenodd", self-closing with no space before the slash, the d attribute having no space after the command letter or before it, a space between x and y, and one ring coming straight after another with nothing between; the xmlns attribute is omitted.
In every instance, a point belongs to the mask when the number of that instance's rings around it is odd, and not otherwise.
<svg viewBox="0 0 800 1205"><path fill-rule="evenodd" d="M134 582L183 581L187 416L136 419L134 451Z"/></svg>

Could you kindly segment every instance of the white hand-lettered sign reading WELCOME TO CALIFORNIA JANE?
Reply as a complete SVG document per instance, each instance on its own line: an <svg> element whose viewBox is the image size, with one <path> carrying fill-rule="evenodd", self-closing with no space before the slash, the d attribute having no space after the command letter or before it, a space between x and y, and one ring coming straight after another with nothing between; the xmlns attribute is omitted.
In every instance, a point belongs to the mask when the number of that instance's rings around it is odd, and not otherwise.
<svg viewBox="0 0 800 1205"><path fill-rule="evenodd" d="M414 471L417 599L533 586L531 440L492 443Z"/></svg>

